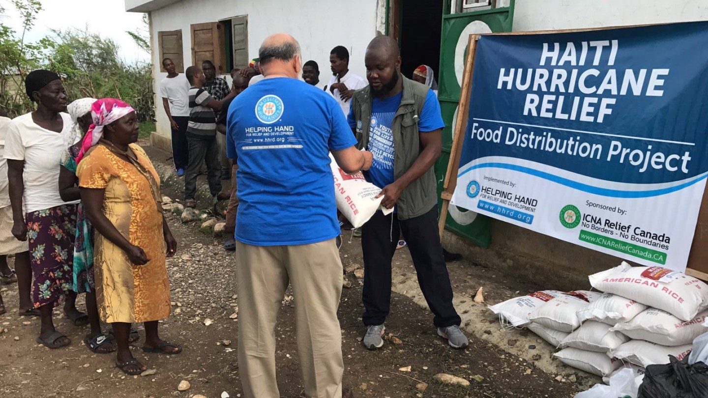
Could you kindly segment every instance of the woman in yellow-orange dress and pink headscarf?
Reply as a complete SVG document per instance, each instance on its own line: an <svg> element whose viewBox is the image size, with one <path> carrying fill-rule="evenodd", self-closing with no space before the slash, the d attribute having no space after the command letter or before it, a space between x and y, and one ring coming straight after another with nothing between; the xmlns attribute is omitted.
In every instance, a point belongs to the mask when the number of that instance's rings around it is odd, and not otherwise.
<svg viewBox="0 0 708 398"><path fill-rule="evenodd" d="M170 314L165 257L175 254L177 244L162 217L159 176L135 144L135 110L103 98L93 103L91 117L93 125L76 157L76 175L86 216L96 229L96 302L101 319L113 325L116 365L137 375L147 368L130 353L133 322L144 323L143 351L182 351L161 340L157 331L159 319Z"/></svg>

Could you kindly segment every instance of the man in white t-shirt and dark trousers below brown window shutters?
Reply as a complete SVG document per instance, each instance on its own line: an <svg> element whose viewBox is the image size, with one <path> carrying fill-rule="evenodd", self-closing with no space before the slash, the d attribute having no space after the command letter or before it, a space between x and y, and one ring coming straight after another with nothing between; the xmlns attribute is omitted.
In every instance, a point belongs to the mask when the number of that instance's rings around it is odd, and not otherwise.
<svg viewBox="0 0 708 398"><path fill-rule="evenodd" d="M160 81L160 96L172 129L172 159L178 176L183 176L189 163L187 125L189 124L189 81L175 71L172 59L162 60L167 77Z"/></svg>

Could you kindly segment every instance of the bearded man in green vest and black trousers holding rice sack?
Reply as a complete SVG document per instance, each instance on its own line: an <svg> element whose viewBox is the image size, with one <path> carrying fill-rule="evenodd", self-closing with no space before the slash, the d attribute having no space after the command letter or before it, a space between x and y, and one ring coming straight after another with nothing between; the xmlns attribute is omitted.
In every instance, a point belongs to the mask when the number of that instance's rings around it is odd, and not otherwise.
<svg viewBox="0 0 708 398"><path fill-rule="evenodd" d="M384 322L391 301L391 260L403 232L418 273L418 283L435 314L438 335L453 348L467 347L452 306L452 287L438 236L438 194L433 165L442 149L440 104L424 84L401 74L396 40L379 36L365 55L369 86L355 91L348 116L360 149L374 155L365 172L382 188L382 205L390 215L376 214L362 227L364 254L364 346L383 346Z"/></svg>

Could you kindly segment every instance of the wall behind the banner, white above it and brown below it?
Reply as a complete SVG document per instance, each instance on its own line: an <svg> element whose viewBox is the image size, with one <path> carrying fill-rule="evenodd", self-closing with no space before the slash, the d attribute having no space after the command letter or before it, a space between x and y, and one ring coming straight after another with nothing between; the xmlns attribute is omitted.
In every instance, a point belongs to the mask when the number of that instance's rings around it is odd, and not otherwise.
<svg viewBox="0 0 708 398"><path fill-rule="evenodd" d="M516 0L513 29L556 30L706 20L706 0ZM588 274L622 261L499 220L493 220L491 232L489 249L474 246L450 232L445 245L484 266L560 290L589 287Z"/></svg>

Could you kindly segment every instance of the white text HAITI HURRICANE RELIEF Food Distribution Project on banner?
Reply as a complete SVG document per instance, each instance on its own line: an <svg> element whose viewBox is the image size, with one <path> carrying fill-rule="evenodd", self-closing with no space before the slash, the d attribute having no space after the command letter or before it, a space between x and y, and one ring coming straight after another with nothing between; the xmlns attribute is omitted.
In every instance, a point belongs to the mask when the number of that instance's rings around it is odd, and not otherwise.
<svg viewBox="0 0 708 398"><path fill-rule="evenodd" d="M579 46L579 48L578 48ZM615 69L615 60L620 52L619 40L583 41L578 45L566 42L544 42L539 49L539 67L500 68L496 89L500 91L527 92L523 108L518 111L526 117L573 120L589 123L604 123L615 115L613 110L622 98L629 96L661 97L664 95L665 79L670 74L668 68L657 69ZM597 67L603 64L603 72ZM570 69L567 69L569 68ZM609 69L606 69L610 67ZM499 122L473 118L479 122ZM537 151L557 152L573 157L597 159L617 164L631 164L639 173L647 170L666 170L688 174L691 152L662 152L651 142L665 140L612 140L608 146L599 142L585 142L586 137L616 136L602 132L590 135L566 132L534 132L533 127L543 126L506 123L514 127L500 125L485 128L481 123L472 123L472 139L502 143L514 147ZM484 123L486 124L486 123ZM527 127L526 127L527 126ZM530 128L529 128L530 127ZM570 134L569 134L570 132ZM586 133L585 131L577 131ZM570 135L570 137L569 137ZM616 136L621 137L621 136ZM623 137L632 138L632 137ZM649 142L639 144L640 142ZM636 142L636 144L634 144ZM692 143L675 142L692 145ZM631 145L631 146L630 146Z"/></svg>

